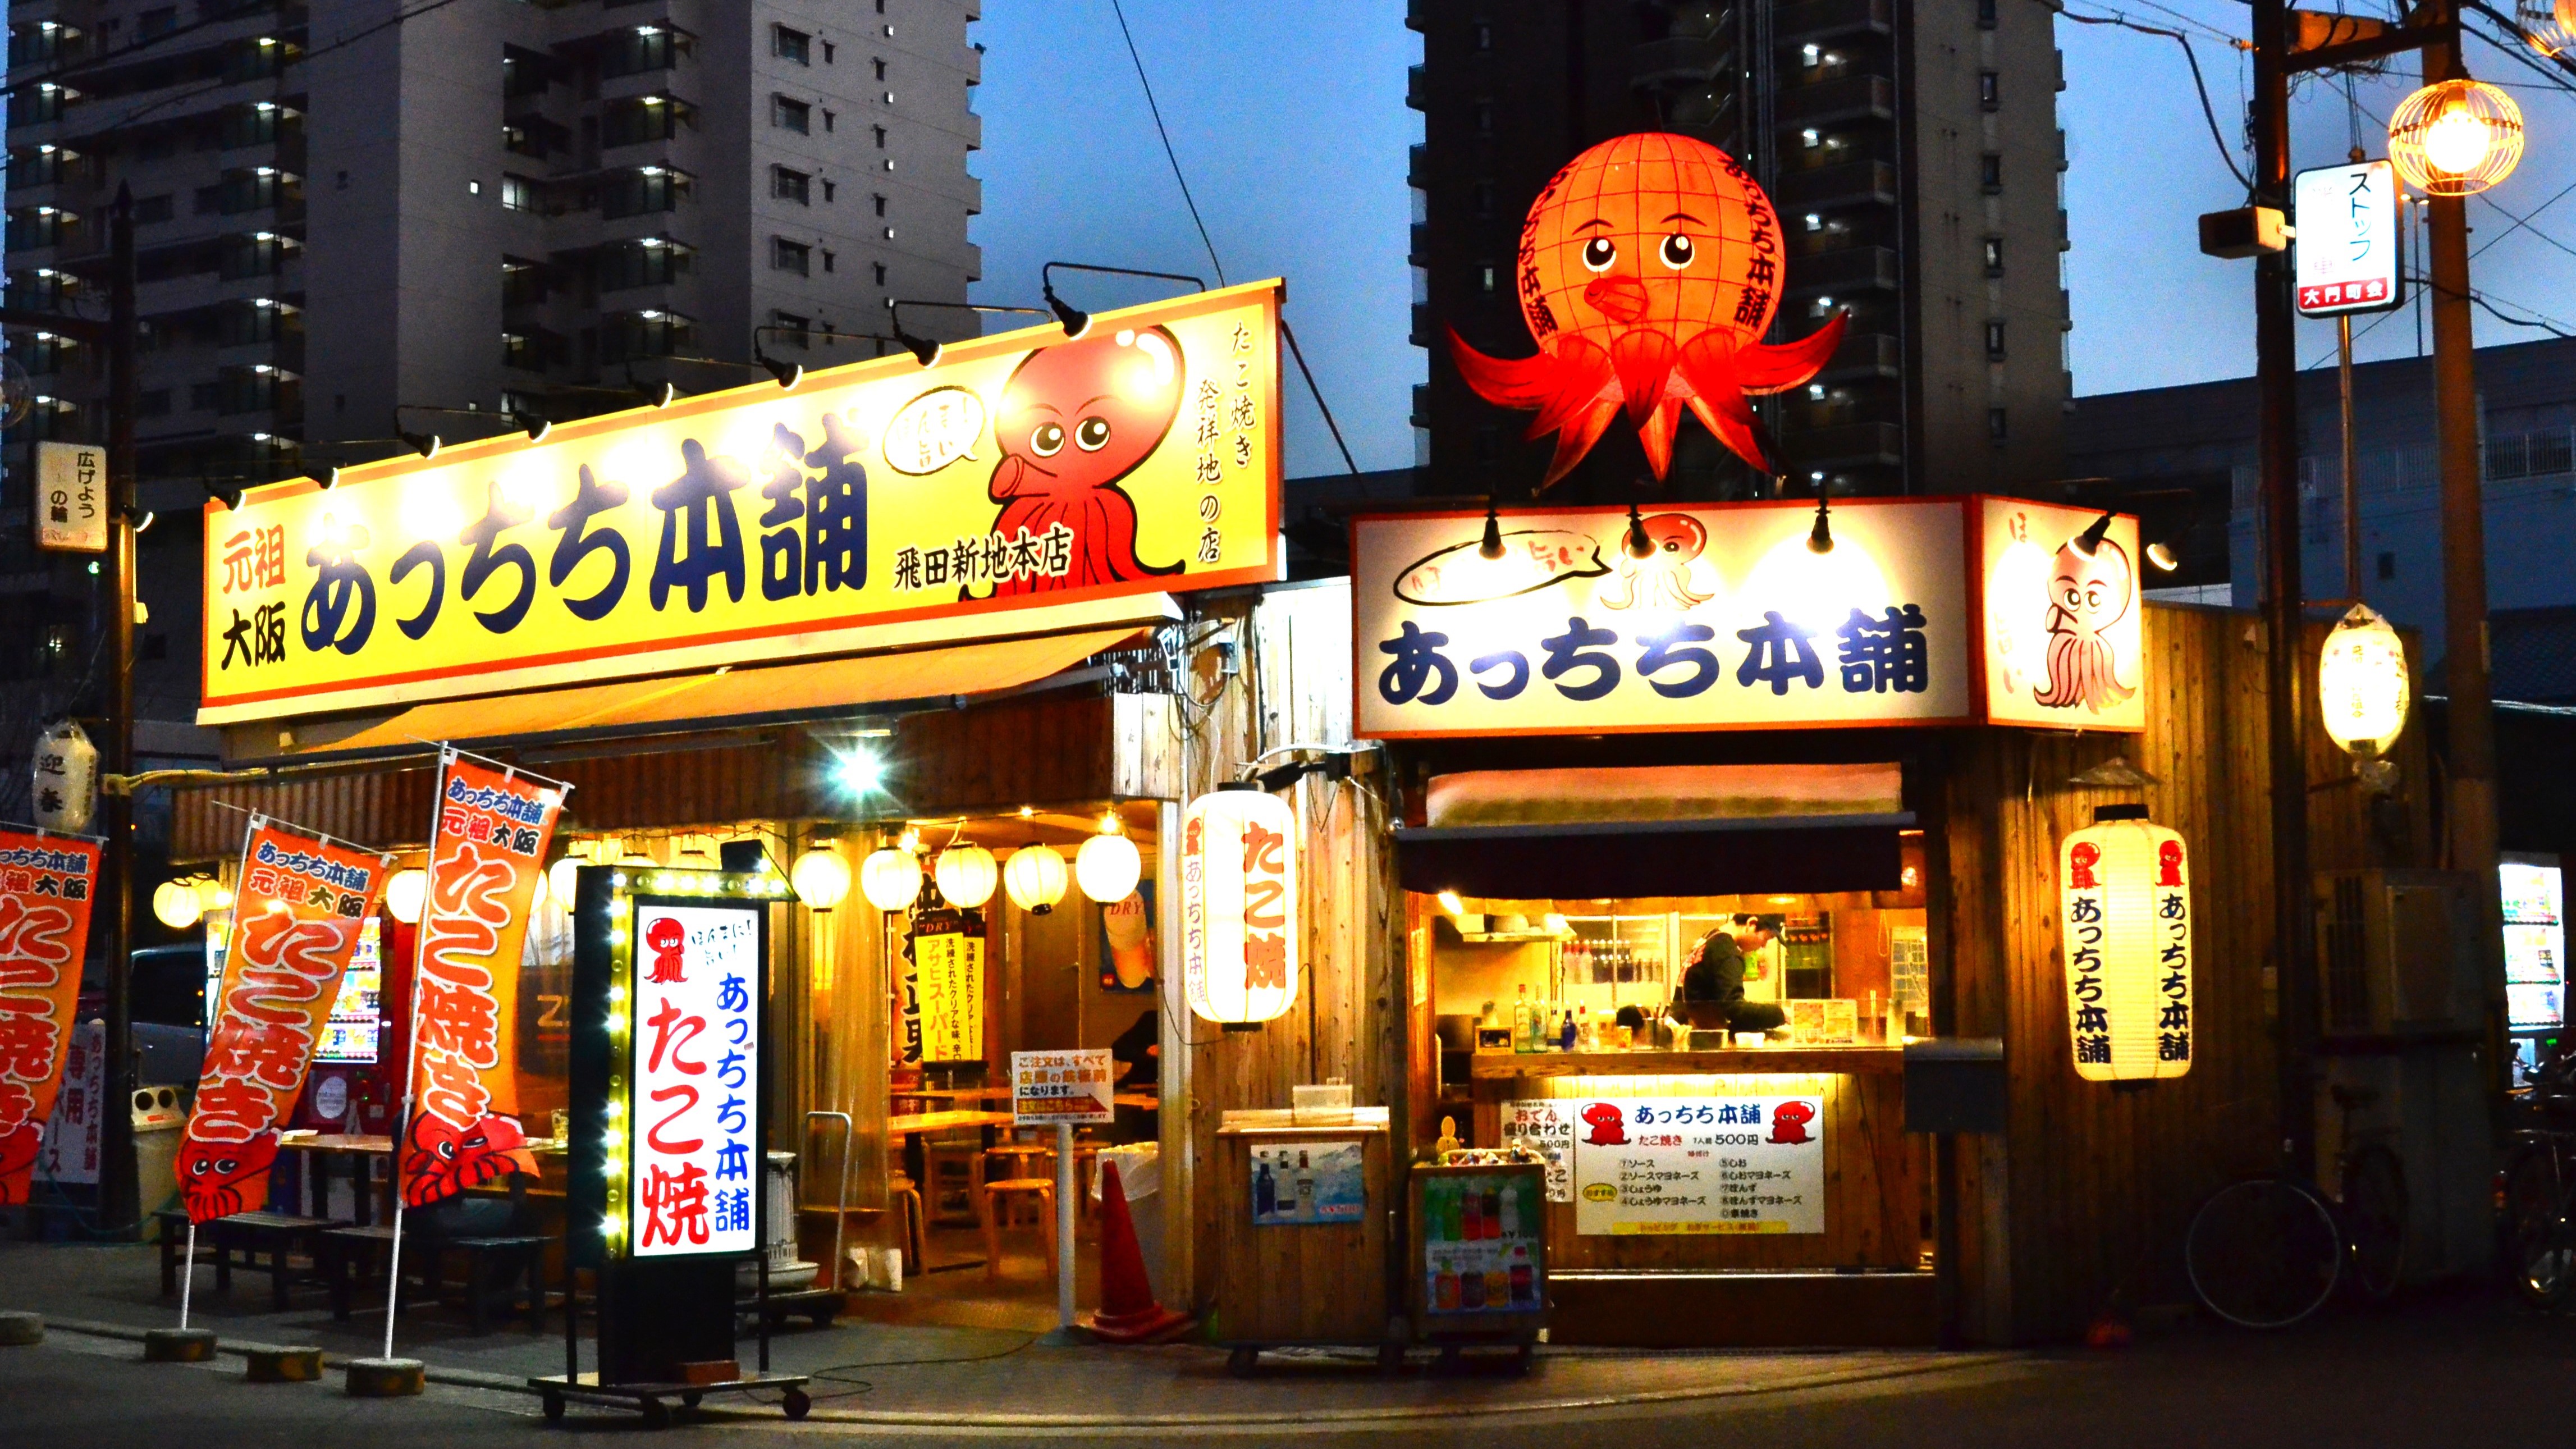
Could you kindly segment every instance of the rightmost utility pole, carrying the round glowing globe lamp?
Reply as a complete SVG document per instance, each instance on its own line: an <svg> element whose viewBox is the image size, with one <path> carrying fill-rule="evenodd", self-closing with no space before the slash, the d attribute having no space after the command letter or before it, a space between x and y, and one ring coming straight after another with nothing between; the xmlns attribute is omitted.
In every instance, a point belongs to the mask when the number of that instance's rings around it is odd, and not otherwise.
<svg viewBox="0 0 2576 1449"><path fill-rule="evenodd" d="M2424 85L2468 80L2458 0L2429 0L2439 26L2424 46ZM2504 902L2496 882L2496 701L2486 637L2486 495L2478 459L2478 364L2468 312L2468 199L2432 196L2432 394L2442 456L2442 634L2450 694L2450 776L2442 794L2450 869L2468 871L2478 902L2491 1101L2512 1085L2504 1042Z"/></svg>

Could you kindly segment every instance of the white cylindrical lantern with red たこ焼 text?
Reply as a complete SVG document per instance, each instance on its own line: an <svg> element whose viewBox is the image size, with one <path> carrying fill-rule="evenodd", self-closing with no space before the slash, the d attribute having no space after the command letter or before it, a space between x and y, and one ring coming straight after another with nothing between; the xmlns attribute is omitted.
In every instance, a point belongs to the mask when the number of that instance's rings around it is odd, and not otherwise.
<svg viewBox="0 0 2576 1449"><path fill-rule="evenodd" d="M1255 784L1180 815L1180 980L1190 1011L1226 1026L1296 1006L1296 812Z"/></svg>

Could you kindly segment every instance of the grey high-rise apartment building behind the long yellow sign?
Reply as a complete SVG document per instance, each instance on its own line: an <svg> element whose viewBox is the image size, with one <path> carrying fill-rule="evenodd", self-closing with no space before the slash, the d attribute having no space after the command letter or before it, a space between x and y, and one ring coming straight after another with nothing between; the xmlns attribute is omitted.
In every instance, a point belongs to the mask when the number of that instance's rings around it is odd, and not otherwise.
<svg viewBox="0 0 2576 1449"><path fill-rule="evenodd" d="M502 425L464 410L708 392L757 376L755 351L850 361L819 333L889 333L891 299L963 302L979 273L976 15L21 3L10 299L103 307L108 206L131 188L144 477L291 477L399 431ZM907 325L976 330L966 312ZM23 348L36 436L103 436L90 351Z"/></svg>

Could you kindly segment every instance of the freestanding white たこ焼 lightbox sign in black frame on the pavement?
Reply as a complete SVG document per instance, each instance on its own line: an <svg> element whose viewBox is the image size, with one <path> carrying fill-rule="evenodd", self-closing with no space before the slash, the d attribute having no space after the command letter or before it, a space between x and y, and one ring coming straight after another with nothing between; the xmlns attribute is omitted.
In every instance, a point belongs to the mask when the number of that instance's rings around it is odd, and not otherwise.
<svg viewBox="0 0 2576 1449"><path fill-rule="evenodd" d="M775 874L590 866L574 892L572 1212L582 1261L760 1245Z"/></svg>

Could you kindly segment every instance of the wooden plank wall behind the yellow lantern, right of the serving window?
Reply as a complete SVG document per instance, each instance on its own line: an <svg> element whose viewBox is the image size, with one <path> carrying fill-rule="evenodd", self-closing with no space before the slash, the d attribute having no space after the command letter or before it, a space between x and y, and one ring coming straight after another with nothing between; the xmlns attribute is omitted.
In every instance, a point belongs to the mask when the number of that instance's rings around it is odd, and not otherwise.
<svg viewBox="0 0 2576 1449"><path fill-rule="evenodd" d="M2303 642L2308 678L2321 634ZM1976 1341L2069 1338L2112 1302L2184 1302L2192 1212L2277 1155L2264 632L2251 614L2151 606L2146 650L2146 735L1960 732L1924 802L1937 1024L2002 1036L2012 1083L2009 1134L1958 1142L1958 1315ZM2156 784L2069 784L2112 755ZM2401 737L2401 789L2380 804L2313 719L2306 755L2316 869L2429 864L2421 730ZM2092 807L2141 799L2192 848L2197 1039L2190 1075L2112 1091L2069 1057L2056 848Z"/></svg>

